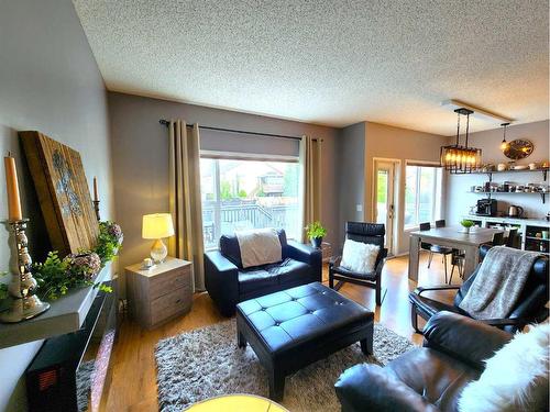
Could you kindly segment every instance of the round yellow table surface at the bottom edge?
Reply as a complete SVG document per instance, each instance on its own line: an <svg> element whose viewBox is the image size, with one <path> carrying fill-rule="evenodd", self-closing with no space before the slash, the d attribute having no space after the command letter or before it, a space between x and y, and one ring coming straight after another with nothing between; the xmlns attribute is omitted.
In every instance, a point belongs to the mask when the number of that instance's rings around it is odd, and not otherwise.
<svg viewBox="0 0 550 412"><path fill-rule="evenodd" d="M207 399L186 409L188 412L288 412L274 401L254 394L228 394Z"/></svg>

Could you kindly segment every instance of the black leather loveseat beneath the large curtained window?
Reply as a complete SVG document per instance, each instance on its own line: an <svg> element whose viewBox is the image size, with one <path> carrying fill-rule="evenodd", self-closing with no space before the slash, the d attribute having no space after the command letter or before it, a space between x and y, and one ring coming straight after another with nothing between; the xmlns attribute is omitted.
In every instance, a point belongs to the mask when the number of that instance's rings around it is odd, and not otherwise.
<svg viewBox="0 0 550 412"><path fill-rule="evenodd" d="M223 235L219 250L205 254L205 280L208 294L224 316L235 312L239 302L267 293L321 281L321 252L286 240L278 232L283 260L243 269L237 236Z"/></svg>

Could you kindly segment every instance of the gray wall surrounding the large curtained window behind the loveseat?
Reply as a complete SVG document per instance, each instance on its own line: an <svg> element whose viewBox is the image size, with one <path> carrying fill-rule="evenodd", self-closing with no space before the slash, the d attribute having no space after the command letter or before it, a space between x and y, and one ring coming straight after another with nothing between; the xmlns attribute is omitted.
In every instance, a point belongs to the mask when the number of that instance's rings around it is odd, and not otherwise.
<svg viewBox="0 0 550 412"><path fill-rule="evenodd" d="M109 92L109 114L114 204L118 220L124 229L121 267L148 256L150 242L141 238L142 215L168 211L168 134L166 127L158 124L158 119L182 119L188 123L217 127L322 137L321 218L329 231L328 242L337 238L337 129L114 92ZM211 144L213 136L209 133L201 132L201 138ZM268 140L266 145L278 142L286 146L288 143L265 138Z"/></svg>

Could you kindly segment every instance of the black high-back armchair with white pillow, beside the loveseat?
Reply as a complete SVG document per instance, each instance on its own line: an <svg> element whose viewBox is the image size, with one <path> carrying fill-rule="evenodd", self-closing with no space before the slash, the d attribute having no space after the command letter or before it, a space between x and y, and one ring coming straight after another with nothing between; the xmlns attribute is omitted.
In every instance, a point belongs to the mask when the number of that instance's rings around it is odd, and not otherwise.
<svg viewBox="0 0 550 412"><path fill-rule="evenodd" d="M331 289L340 289L343 282L350 282L367 288L375 289L376 304L382 304L382 269L384 260L387 257L387 248L384 247L384 235L386 234L384 224L365 223L365 222L346 222L345 223L345 238L370 243L380 246L378 256L376 256L376 264L374 271L370 274L359 274L348 270L340 266L341 256L333 257L329 261L329 287ZM334 288L334 280L338 280Z"/></svg>

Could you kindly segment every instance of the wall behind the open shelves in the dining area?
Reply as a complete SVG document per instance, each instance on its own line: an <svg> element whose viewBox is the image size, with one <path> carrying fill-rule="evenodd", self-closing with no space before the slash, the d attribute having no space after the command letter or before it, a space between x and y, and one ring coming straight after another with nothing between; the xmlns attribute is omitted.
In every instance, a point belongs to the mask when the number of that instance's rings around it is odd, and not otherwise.
<svg viewBox="0 0 550 412"><path fill-rule="evenodd" d="M518 165L528 165L532 162L548 160L549 153L549 121L534 122L527 124L513 125L506 133L506 140L528 138L535 145L532 154L521 160ZM501 142L503 140L503 130L495 129L484 132L472 133L469 144L474 147L480 147L483 151L483 163L507 163L508 159L501 151ZM450 143L454 143L454 137L449 137ZM448 178L447 191L447 220L451 223L458 223L463 214L470 211L470 207L474 205L482 194L468 193L472 186L482 186L487 181L486 175L450 175ZM508 172L495 174L493 179L496 182L505 180L517 183L542 182L542 174L534 172ZM525 213L529 218L543 218L550 210L550 204L542 204L538 194L501 194L494 197L498 201L498 210L506 211L509 204L518 204L525 209ZM547 197L548 198L548 197Z"/></svg>

